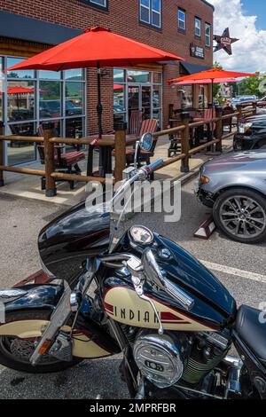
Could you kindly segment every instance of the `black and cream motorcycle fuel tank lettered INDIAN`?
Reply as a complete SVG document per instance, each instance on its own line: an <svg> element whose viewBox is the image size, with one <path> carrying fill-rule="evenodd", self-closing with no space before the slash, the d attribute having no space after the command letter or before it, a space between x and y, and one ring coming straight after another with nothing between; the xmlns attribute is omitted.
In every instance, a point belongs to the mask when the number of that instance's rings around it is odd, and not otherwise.
<svg viewBox="0 0 266 417"><path fill-rule="evenodd" d="M129 240L124 239L122 245L124 249L129 248ZM167 272L168 279L194 300L192 308L185 310L165 291L145 284L145 295L153 300L165 329L219 331L234 321L235 300L195 257L175 242L158 235L154 235L151 248L160 268ZM135 247L135 250L136 255L141 256L143 248ZM152 306L137 296L130 276L107 278L103 294L106 313L113 319L133 327L159 327Z"/></svg>

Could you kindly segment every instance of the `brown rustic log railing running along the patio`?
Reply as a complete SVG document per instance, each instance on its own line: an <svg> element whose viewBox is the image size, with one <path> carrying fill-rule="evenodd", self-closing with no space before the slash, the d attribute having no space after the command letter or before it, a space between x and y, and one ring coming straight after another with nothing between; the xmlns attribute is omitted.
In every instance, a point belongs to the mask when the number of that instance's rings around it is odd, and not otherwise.
<svg viewBox="0 0 266 417"><path fill-rule="evenodd" d="M182 114L182 124L176 128L168 130L160 130L154 133L154 138L160 138L165 135L181 135L181 153L166 159L163 163L163 167L176 163L176 161L181 161L181 171L190 172L190 156L194 153L199 153L201 150L209 148L210 146L215 146L216 151L222 152L223 139L231 137L232 133L223 134L223 120L228 120L231 118L237 117L238 123L242 117L247 115L252 115L256 113L256 108L240 108L238 112L232 114L223 115L222 109L216 109L216 117L208 121L202 122L189 122L189 114ZM190 148L190 132L192 129L199 128L200 126L210 126L212 127L215 123L215 132L213 139L207 141L203 145ZM44 126L43 126L44 128ZM90 181L99 182L104 184L106 179L104 177L95 177L95 176L84 176L76 174L68 174L57 172L55 169L55 160L54 160L54 146L58 144L65 145L85 145L89 146L92 142L91 138L53 138L51 129L43 129L43 137L25 137L25 136L4 136L3 135L3 124L0 124L0 186L4 186L4 171L35 175L39 177L45 177L45 194L48 197L56 195L56 180L66 180L66 181L76 181L88 183ZM43 144L44 147L44 169L32 169L28 167L17 167L17 166L6 166L4 165L4 141L12 140L14 142L29 142ZM101 139L98 141L98 146L111 146L115 149L114 156L114 181L121 181L122 171L126 166L126 146L132 145L136 142L136 139L127 139L126 131L117 130L113 139L104 140ZM162 168L163 168L162 167Z"/></svg>

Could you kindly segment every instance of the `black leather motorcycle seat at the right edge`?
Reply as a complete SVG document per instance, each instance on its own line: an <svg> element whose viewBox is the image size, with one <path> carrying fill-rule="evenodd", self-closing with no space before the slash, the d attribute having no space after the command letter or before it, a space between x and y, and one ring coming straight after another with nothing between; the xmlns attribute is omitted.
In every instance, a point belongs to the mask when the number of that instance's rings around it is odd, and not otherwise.
<svg viewBox="0 0 266 417"><path fill-rule="evenodd" d="M266 313L241 305L235 328L243 342L266 363Z"/></svg>

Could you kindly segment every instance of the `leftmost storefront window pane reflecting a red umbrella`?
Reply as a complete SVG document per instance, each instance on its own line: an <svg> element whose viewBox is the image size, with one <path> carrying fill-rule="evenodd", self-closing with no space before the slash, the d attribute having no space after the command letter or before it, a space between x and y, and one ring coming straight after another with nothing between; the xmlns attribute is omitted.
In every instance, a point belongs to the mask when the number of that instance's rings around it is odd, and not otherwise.
<svg viewBox="0 0 266 417"><path fill-rule="evenodd" d="M7 117L9 122L35 118L35 82L7 83Z"/></svg>

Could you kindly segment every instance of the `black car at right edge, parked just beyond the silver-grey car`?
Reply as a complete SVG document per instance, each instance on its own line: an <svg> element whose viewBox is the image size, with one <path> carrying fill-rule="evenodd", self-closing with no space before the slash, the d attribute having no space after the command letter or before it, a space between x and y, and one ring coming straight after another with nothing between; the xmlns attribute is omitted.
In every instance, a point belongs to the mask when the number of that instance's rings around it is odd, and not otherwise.
<svg viewBox="0 0 266 417"><path fill-rule="evenodd" d="M264 147L266 138L266 114L257 114L239 121L239 131L234 135L234 151Z"/></svg>

